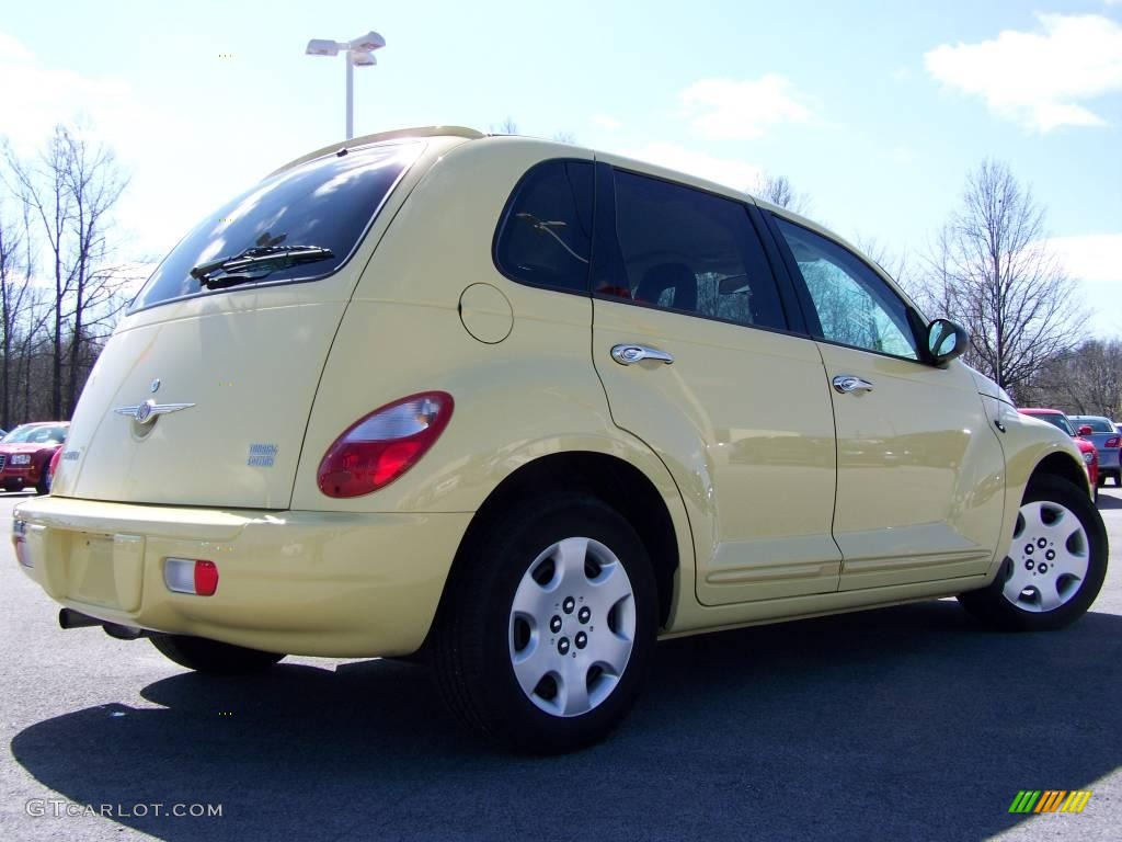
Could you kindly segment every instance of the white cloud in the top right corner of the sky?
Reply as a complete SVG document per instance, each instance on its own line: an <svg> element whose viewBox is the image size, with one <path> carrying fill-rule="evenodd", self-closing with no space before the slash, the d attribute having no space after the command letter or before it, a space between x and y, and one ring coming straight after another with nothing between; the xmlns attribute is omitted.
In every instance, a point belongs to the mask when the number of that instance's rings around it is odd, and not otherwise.
<svg viewBox="0 0 1122 842"><path fill-rule="evenodd" d="M992 40L936 47L923 56L927 72L1038 131L1102 126L1082 103L1122 91L1122 25L1101 15L1037 19L1036 31L1006 29Z"/></svg>

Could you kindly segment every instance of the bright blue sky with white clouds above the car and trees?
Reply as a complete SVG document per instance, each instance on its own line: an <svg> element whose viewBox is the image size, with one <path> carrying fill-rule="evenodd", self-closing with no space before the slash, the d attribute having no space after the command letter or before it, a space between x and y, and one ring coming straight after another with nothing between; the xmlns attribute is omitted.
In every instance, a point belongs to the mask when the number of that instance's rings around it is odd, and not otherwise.
<svg viewBox="0 0 1122 842"><path fill-rule="evenodd" d="M81 115L132 174L122 257L157 258L342 137L343 63L304 45L371 28L357 134L511 117L742 189L785 175L809 216L913 266L967 171L1006 161L1096 331L1122 335L1122 0L19 3L0 135L29 149Z"/></svg>

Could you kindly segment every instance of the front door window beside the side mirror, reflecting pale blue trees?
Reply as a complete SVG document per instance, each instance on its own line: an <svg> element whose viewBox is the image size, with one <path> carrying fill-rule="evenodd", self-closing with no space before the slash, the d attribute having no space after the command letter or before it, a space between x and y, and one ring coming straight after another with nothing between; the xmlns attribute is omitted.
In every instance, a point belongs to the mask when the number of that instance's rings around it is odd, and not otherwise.
<svg viewBox="0 0 1122 842"><path fill-rule="evenodd" d="M873 269L826 237L774 219L810 292L824 339L919 359L908 306Z"/></svg>

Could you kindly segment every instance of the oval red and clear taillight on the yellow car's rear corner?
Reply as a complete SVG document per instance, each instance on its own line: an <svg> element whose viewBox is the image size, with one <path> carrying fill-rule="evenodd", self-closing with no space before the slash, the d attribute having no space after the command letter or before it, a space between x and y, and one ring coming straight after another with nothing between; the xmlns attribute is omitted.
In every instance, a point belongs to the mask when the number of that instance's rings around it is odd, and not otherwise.
<svg viewBox="0 0 1122 842"><path fill-rule="evenodd" d="M359 419L328 448L316 482L329 497L378 491L412 468L452 418L452 396L422 392Z"/></svg>

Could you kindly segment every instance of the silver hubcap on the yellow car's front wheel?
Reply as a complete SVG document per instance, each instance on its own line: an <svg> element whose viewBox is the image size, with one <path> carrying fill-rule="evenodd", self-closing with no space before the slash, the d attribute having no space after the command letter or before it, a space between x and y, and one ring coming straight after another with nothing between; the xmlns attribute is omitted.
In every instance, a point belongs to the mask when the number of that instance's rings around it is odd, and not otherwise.
<svg viewBox="0 0 1122 842"><path fill-rule="evenodd" d="M1026 503L1005 557L1002 593L1023 611L1054 611L1079 592L1088 561L1087 532L1074 512L1049 501Z"/></svg>

